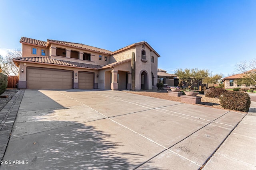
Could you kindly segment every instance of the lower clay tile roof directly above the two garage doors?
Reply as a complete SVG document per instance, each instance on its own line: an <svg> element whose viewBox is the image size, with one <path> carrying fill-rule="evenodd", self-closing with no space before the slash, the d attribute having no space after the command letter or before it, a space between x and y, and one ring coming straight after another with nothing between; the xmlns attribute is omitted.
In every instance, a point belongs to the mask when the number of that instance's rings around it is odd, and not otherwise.
<svg viewBox="0 0 256 170"><path fill-rule="evenodd" d="M94 68L94 69L98 69L102 67L96 64L86 64L86 63L77 63L72 61L56 60L56 59L51 59L51 57L19 57L19 58L14 58L13 61L16 62L16 65L18 65L18 62L20 61L23 61L23 62L27 61L27 62L35 62L35 63L56 64L56 65L62 65L62 66L76 66L76 67Z"/></svg>

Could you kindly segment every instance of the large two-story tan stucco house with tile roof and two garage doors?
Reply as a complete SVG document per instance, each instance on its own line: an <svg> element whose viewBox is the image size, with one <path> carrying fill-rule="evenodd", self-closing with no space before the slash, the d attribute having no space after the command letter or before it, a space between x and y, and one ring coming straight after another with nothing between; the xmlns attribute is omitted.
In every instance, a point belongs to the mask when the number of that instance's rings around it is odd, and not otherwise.
<svg viewBox="0 0 256 170"><path fill-rule="evenodd" d="M145 41L108 51L80 43L22 37L21 89L132 89L135 53L135 90L157 83L158 53Z"/></svg>

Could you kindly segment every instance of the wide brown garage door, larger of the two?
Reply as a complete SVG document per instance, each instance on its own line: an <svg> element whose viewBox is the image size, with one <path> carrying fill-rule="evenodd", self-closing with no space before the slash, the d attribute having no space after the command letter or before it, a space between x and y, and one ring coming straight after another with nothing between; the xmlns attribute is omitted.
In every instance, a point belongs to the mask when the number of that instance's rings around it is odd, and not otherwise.
<svg viewBox="0 0 256 170"><path fill-rule="evenodd" d="M72 89L73 71L27 68L27 89Z"/></svg>

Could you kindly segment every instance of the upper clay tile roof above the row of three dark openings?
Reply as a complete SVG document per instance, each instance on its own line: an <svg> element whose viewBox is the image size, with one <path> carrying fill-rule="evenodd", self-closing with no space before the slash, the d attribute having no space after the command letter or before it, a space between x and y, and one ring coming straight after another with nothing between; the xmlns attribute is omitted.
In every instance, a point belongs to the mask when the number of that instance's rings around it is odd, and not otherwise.
<svg viewBox="0 0 256 170"><path fill-rule="evenodd" d="M110 53L112 53L112 51L108 51L108 50L105 50L105 49L100 49L100 48L97 48L97 47L92 47L90 45L84 45L84 44L80 44L80 43L71 43L71 42L58 41L58 40L52 40L52 39L48 39L47 41L52 42L52 43L60 43L60 44L64 44L64 45L70 45L70 46L73 46L73 47L79 47L79 48L83 48L83 49L97 51L97 52L101 52L101 53L106 53L108 55L110 55Z"/></svg>

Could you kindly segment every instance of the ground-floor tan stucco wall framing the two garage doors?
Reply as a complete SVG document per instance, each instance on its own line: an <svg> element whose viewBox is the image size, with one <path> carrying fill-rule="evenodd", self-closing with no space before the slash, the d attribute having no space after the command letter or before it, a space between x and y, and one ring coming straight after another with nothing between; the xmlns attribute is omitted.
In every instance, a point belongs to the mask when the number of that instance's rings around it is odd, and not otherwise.
<svg viewBox="0 0 256 170"><path fill-rule="evenodd" d="M87 72L94 72L94 83L98 83L98 78L96 77L98 74L98 70L90 70L90 69L83 69L83 68L74 68L74 67L66 67L66 66L54 66L54 65L47 65L47 64L34 64L34 63L22 63L20 62L20 81L26 81L26 68L29 66L33 67L42 67L42 68L56 68L56 69L62 69L62 70L72 70L74 71L74 83L78 82L78 76L75 74L78 74L78 71L87 71ZM21 72L21 69L23 68L24 72Z"/></svg>

